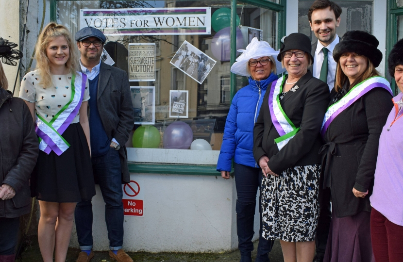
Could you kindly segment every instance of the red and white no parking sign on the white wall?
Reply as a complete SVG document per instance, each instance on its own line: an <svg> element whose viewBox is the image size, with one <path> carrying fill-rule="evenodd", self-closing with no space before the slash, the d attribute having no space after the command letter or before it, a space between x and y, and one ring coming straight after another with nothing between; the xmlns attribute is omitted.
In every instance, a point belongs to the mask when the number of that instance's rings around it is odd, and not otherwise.
<svg viewBox="0 0 403 262"><path fill-rule="evenodd" d="M143 216L142 181L131 176L130 183L123 184L123 213L129 216Z"/></svg>

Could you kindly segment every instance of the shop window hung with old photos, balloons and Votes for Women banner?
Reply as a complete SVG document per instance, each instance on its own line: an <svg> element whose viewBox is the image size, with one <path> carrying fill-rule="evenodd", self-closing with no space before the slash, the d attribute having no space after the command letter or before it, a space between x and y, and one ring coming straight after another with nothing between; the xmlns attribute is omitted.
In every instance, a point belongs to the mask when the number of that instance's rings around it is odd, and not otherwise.
<svg viewBox="0 0 403 262"><path fill-rule="evenodd" d="M277 3L278 0L272 2ZM236 86L231 87L230 84L231 19L228 16L231 13L230 0L58 0L56 6L57 22L66 25L72 33L86 26L81 24L84 22L80 20L80 17L84 17L84 11L88 9L94 10L88 16L107 14L111 17L114 16L113 12L116 9L127 12L131 8L154 10L171 8L169 12L176 12L188 8L187 14L196 17L191 18L195 20L184 21L183 16L180 16L181 18L178 20L174 18L168 20L168 24L189 23L189 21L194 23L196 21L199 23L197 30L200 32L206 30L204 33L194 33L196 31L192 33L187 24L182 27L178 26L171 31L159 27L155 28L155 33L142 35L134 34L135 30L132 29L103 28L104 33L107 34L105 49L115 61L114 66L118 66L130 75L134 69L130 66L129 49L133 46L139 47L138 44L155 44L155 59L151 58L154 68L151 71L154 76L151 74L150 81L141 79L141 81L130 82L133 90L139 89L136 91L139 97L134 99L134 112L140 114L137 117L139 121L134 125L134 136L136 136L136 130L143 129L143 134L153 130L151 138L144 136L144 140L153 139L155 141L151 142L155 143L137 141L135 147L149 147L155 148L155 150L172 148L187 150L194 141L199 140L200 142L202 139L205 143L199 143L197 148L220 150L225 120L230 109L231 90L239 90L248 84L247 78L240 76L235 76ZM193 9L190 10L190 8ZM108 13L103 13L102 9L108 9ZM198 15L203 12L210 14L207 20L211 24L210 27L204 29L203 25L206 20L197 19ZM273 48L278 49L277 32L279 30L276 12L237 2L236 13L240 23L236 29L236 49L244 49L253 36L258 37L259 40L268 41ZM122 17L121 13L119 13L119 17ZM138 17L141 16L136 16L134 19L138 20ZM218 17L228 19L220 20ZM144 19L138 21L138 26L142 23L144 23ZM139 27L138 30L137 32L140 32L143 29ZM164 33L168 31L169 33ZM148 46L152 49L152 45ZM238 55L240 53L236 54L236 56ZM143 68L147 68L147 66ZM132 72L132 75L135 74ZM139 78L133 78L139 80ZM140 121L140 118L143 117L141 115L150 115L150 113L154 115L153 121ZM152 146L150 146L151 144ZM186 151L184 151L185 153ZM155 162L155 160L152 161ZM198 163L197 159L195 159L195 163Z"/></svg>

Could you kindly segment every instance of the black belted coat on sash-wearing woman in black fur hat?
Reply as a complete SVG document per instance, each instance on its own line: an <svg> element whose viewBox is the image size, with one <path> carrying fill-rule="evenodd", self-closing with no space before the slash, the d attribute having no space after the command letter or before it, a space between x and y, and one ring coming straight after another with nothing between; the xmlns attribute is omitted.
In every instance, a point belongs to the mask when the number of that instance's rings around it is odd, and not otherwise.
<svg viewBox="0 0 403 262"><path fill-rule="evenodd" d="M330 97L335 96L333 89ZM393 107L391 98L386 89L374 88L337 115L326 130L321 176L324 176L324 185L330 187L337 217L371 210L369 196L379 137ZM360 192L369 190L369 194L357 198L353 187Z"/></svg>

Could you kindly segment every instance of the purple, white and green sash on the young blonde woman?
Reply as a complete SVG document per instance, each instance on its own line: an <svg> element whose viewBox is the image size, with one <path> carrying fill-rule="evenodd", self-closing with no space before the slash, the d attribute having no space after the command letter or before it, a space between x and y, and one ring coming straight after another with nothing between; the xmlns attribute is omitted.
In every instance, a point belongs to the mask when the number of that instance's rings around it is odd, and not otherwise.
<svg viewBox="0 0 403 262"><path fill-rule="evenodd" d="M87 76L76 72L71 77L70 101L47 122L43 117L36 114L35 132L39 136L39 149L49 155L53 150L60 156L70 145L62 134L78 114L85 91Z"/></svg>

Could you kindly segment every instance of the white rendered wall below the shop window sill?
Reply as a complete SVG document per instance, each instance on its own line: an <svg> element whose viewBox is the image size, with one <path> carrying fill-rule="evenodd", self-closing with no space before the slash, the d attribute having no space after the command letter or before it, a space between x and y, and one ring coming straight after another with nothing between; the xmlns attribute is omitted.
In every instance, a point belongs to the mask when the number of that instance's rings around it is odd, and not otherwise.
<svg viewBox="0 0 403 262"><path fill-rule="evenodd" d="M123 248L146 252L228 252L237 248L233 178L131 174L141 181L143 217L125 216ZM99 186L92 200L94 250L108 250L104 202ZM259 212L256 205L255 235ZM70 246L78 247L76 229Z"/></svg>

